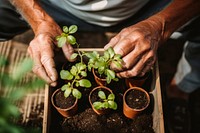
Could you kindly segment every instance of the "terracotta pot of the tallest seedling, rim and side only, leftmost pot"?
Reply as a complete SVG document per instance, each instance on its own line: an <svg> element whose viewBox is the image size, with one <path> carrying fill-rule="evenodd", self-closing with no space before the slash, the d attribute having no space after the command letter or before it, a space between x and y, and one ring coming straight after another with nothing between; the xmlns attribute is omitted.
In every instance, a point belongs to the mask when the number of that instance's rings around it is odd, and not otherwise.
<svg viewBox="0 0 200 133"><path fill-rule="evenodd" d="M54 93L51 96L51 103L52 105L56 108L56 110L63 116L63 117L71 117L73 115L76 114L77 110L78 110L78 99L75 100L74 104L66 109L60 108L58 106L56 106L55 102L54 102L54 96L56 93L58 93L59 91L61 91L61 89L57 89L56 91L54 91Z"/></svg>

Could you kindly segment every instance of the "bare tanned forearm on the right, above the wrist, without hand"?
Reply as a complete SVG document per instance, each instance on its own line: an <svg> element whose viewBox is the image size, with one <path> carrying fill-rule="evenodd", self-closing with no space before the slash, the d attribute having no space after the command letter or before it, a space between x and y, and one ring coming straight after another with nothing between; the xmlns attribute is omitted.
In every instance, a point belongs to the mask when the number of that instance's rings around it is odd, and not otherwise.
<svg viewBox="0 0 200 133"><path fill-rule="evenodd" d="M179 27L200 14L199 0L174 0L168 7L150 19L162 23L162 40L164 42Z"/></svg>

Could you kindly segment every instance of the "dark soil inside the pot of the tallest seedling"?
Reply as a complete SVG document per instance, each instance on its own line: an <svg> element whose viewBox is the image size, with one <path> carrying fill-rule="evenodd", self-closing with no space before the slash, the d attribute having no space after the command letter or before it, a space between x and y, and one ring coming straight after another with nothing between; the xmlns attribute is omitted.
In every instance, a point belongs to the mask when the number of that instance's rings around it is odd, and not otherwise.
<svg viewBox="0 0 200 133"><path fill-rule="evenodd" d="M69 95L69 97L64 97L63 91L58 91L58 93L55 94L55 105L66 109L74 105L74 102L76 101L76 98L72 95Z"/></svg>

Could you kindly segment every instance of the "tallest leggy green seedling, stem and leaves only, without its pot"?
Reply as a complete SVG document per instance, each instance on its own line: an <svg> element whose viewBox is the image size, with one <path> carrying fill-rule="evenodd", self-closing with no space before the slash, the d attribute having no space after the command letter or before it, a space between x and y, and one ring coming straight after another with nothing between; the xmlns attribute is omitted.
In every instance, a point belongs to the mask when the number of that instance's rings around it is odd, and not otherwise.
<svg viewBox="0 0 200 133"><path fill-rule="evenodd" d="M61 87L61 90L64 91L64 96L67 98L70 94L72 94L77 99L80 99L82 94L77 89L80 87L91 87L91 83L88 79L84 79L87 77L87 66L83 62L83 56L85 53L83 51L79 51L79 44L76 42L76 38L71 35L74 34L78 30L76 25L72 25L69 28L67 26L63 27L63 33L60 36L56 37L58 41L58 47L62 47L66 43L70 45L76 45L77 53L73 53L71 55L71 59L76 59L77 56L80 58L80 62L76 63L71 67L70 70L61 70L60 77L63 80L68 80L68 83Z"/></svg>

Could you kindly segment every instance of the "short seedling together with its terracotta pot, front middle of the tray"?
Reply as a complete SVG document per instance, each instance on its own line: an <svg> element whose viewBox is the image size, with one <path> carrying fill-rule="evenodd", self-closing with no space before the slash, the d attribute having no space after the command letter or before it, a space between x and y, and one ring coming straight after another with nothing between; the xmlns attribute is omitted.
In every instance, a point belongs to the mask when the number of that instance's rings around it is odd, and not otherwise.
<svg viewBox="0 0 200 133"><path fill-rule="evenodd" d="M94 88L89 94L89 102L98 115L106 114L111 109L117 109L114 93L105 86Z"/></svg>

